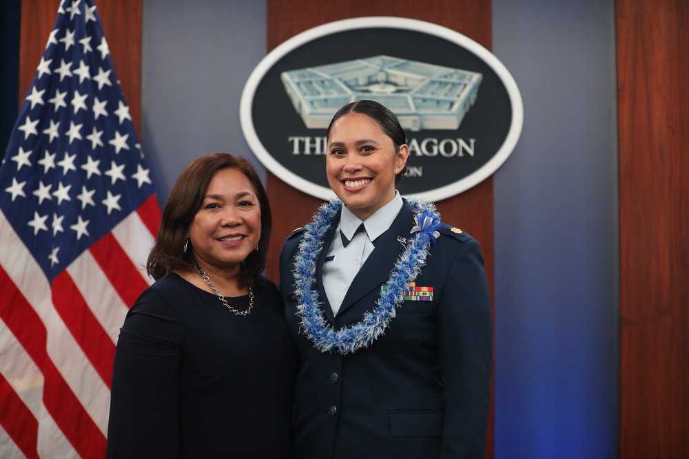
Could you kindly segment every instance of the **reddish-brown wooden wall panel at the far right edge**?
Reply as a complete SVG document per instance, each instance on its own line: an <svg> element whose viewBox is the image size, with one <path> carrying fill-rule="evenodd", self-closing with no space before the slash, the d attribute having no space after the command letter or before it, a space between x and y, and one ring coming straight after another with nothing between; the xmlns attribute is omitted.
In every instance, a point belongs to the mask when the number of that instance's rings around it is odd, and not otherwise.
<svg viewBox="0 0 689 459"><path fill-rule="evenodd" d="M617 0L620 455L689 457L689 2Z"/></svg>

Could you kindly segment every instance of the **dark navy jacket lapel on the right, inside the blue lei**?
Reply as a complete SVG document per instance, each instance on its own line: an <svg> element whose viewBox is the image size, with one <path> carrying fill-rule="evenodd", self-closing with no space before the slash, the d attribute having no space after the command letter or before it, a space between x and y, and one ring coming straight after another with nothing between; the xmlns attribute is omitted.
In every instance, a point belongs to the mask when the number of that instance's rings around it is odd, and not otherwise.
<svg viewBox="0 0 689 459"><path fill-rule="evenodd" d="M385 284L390 277L390 271L393 269L395 261L397 261L400 253L404 250L404 244L398 239L404 238L406 240L411 236L409 231L413 226L413 217L414 213L411 206L407 200L404 200L402 210L395 217L390 228L380 236L380 242L373 249L371 255L369 255L356 277L354 277L351 286L349 286L347 295L342 300L342 306L340 306L338 311L338 319L342 317L343 312L351 308L359 299L368 295L371 290L380 289L380 286ZM324 248L323 250L325 253L326 249ZM366 310L373 310L373 308L374 304L366 305ZM332 317L332 310L329 317Z"/></svg>

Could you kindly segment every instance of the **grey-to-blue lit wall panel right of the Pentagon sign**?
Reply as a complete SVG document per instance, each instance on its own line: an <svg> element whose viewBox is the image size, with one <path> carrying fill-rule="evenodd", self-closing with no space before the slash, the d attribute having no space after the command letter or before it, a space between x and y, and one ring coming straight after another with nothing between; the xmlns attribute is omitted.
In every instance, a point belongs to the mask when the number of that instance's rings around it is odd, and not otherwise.
<svg viewBox="0 0 689 459"><path fill-rule="evenodd" d="M495 458L617 458L615 2L492 0L524 98L495 173Z"/></svg>

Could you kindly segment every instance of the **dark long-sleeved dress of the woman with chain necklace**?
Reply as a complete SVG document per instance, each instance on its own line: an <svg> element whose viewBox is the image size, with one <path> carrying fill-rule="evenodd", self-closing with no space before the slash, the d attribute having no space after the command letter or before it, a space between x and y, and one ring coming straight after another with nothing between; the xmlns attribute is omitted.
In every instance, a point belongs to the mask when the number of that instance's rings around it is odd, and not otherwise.
<svg viewBox="0 0 689 459"><path fill-rule="evenodd" d="M178 275L156 281L120 330L107 457L289 458L297 359L268 279L245 317Z"/></svg>

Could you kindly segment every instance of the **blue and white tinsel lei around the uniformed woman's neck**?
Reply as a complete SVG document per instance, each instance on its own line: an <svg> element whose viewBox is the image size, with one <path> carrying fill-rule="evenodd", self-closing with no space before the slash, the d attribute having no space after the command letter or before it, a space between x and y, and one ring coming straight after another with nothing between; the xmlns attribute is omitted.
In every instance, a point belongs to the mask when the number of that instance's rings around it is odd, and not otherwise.
<svg viewBox="0 0 689 459"><path fill-rule="evenodd" d="M376 308L366 312L362 321L335 330L323 317L322 303L318 299L316 286L316 264L323 248L323 236L333 222L333 217L342 208L342 201L333 199L320 206L313 215L313 222L304 227L305 234L294 257L295 294L298 298L297 314L300 317L302 333L320 352L336 351L342 355L356 352L385 334L385 329L397 314L395 308L402 303L402 293L409 289L421 268L426 264L431 243L440 235L440 215L429 202L410 200L414 211L415 233L407 242L402 255L395 261L390 277L381 289Z"/></svg>

